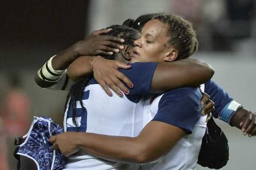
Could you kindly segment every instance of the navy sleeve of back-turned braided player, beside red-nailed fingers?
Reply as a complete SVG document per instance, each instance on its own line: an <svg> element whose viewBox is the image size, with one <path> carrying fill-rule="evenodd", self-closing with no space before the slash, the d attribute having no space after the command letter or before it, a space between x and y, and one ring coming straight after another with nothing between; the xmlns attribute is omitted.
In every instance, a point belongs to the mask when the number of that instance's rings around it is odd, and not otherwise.
<svg viewBox="0 0 256 170"><path fill-rule="evenodd" d="M157 62L135 62L131 64L131 69L119 69L126 77L134 84L130 90L130 94L126 97L132 102L139 102L141 97L149 94L154 71L157 67Z"/></svg>

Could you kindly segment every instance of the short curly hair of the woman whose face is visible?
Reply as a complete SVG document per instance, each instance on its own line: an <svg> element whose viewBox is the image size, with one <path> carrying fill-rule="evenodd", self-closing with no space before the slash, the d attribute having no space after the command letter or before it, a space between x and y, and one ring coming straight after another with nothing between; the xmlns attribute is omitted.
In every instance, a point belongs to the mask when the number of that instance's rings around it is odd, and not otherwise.
<svg viewBox="0 0 256 170"><path fill-rule="evenodd" d="M177 14L168 13L157 15L154 20L160 20L162 23L168 24L169 43L179 51L177 59L188 58L197 51L198 40L196 33L192 23L188 20Z"/></svg>

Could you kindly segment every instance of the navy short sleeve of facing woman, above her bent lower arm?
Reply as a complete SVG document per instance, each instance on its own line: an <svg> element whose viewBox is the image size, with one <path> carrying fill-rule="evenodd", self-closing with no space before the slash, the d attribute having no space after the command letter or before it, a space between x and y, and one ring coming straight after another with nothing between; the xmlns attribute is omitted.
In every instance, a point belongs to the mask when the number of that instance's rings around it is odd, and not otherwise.
<svg viewBox="0 0 256 170"><path fill-rule="evenodd" d="M180 127L191 134L201 116L201 92L199 88L178 88L165 93L158 104L152 121L165 122Z"/></svg>

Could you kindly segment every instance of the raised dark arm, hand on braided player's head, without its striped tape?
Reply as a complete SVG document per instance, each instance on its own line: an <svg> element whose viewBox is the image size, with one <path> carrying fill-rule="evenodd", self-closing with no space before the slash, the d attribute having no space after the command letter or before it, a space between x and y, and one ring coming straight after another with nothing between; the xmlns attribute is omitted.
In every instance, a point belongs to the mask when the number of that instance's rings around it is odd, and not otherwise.
<svg viewBox="0 0 256 170"><path fill-rule="evenodd" d="M119 43L124 40L118 37L105 36L102 34L108 33L110 29L101 29L93 31L85 40L76 42L70 48L62 51L52 59L52 68L54 70L66 69L75 59L80 56L93 55L112 55L123 48ZM35 75L35 82L42 88L50 87L57 82L47 82Z"/></svg>

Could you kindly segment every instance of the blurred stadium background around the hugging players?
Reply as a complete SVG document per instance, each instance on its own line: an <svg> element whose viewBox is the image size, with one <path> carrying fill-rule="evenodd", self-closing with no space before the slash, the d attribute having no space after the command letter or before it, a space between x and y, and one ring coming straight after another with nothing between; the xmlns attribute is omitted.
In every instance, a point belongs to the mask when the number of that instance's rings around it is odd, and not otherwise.
<svg viewBox="0 0 256 170"><path fill-rule="evenodd" d="M22 117L30 123L32 116L51 116L61 122L67 93L44 90L35 84L34 75L41 65L93 30L162 11L176 12L192 21L200 45L193 57L211 64L215 68L213 79L236 101L256 111L256 0L3 0L0 118L19 105L16 100L8 104L14 91L9 80L16 75L22 92L17 101L24 103L23 111L17 111L15 116L17 124L22 124ZM256 138L243 136L240 130L217 122L230 145L230 161L222 169L255 170ZM21 128L12 135L21 136L26 131ZM13 150L9 147L12 135L6 136L0 126L2 166L6 161L3 155L10 155ZM10 170L15 169L15 161L11 162ZM0 166L0 170L3 168ZM206 169L197 166L197 170Z"/></svg>

